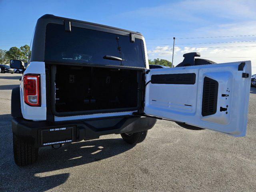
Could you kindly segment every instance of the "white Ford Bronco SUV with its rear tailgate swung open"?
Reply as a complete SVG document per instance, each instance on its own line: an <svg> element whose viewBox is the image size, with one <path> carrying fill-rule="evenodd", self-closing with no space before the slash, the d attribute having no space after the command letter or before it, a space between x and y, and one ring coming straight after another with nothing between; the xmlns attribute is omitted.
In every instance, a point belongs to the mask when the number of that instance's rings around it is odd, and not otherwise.
<svg viewBox="0 0 256 192"><path fill-rule="evenodd" d="M149 69L139 32L54 15L38 19L28 66L12 90L14 160L38 148L121 134L142 142L156 119L245 136L250 61ZM11 60L12 68L23 63Z"/></svg>

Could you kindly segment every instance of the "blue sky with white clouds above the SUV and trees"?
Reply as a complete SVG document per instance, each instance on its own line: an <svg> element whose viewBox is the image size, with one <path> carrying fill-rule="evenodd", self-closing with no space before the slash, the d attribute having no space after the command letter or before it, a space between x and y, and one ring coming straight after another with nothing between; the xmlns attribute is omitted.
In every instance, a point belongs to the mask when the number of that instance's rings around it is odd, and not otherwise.
<svg viewBox="0 0 256 192"><path fill-rule="evenodd" d="M219 63L252 60L256 73L255 0L0 0L0 49L29 45L44 14L141 32L151 59L171 60L175 36L174 65L184 53L197 51ZM192 38L213 36L238 37Z"/></svg>

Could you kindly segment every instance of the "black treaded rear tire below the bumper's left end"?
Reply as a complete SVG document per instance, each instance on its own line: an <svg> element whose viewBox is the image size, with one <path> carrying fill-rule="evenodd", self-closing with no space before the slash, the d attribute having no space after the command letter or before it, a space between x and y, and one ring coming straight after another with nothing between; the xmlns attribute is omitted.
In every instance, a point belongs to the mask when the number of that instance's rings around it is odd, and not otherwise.
<svg viewBox="0 0 256 192"><path fill-rule="evenodd" d="M33 164L38 158L38 148L21 140L13 134L14 161L18 166Z"/></svg>

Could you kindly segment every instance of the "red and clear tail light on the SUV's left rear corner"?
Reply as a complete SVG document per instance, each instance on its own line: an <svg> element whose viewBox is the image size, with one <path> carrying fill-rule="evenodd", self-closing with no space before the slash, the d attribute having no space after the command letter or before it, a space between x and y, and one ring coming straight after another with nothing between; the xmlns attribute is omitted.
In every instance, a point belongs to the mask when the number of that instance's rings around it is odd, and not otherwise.
<svg viewBox="0 0 256 192"><path fill-rule="evenodd" d="M40 75L24 75L24 102L29 106L40 106Z"/></svg>

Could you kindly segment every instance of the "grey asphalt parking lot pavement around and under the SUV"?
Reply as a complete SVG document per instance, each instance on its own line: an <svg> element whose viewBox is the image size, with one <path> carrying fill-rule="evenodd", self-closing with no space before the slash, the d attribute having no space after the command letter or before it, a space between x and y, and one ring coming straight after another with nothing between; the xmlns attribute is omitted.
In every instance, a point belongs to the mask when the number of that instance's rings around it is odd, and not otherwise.
<svg viewBox="0 0 256 192"><path fill-rule="evenodd" d="M0 191L255 191L256 88L248 132L234 138L158 120L136 146L120 135L39 149L39 160L18 167L12 156L11 89L20 75L0 74Z"/></svg>

